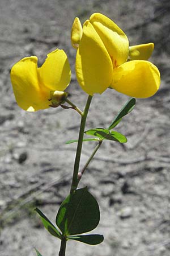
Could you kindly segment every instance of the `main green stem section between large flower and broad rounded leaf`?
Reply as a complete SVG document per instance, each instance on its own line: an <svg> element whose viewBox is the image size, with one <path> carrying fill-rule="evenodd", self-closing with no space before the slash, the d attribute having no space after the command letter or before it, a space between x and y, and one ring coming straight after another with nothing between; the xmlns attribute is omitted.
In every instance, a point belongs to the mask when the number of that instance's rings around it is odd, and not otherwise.
<svg viewBox="0 0 170 256"><path fill-rule="evenodd" d="M88 114L88 110L90 108L92 96L88 96L86 107L84 109L84 112L82 113L82 119L80 124L80 130L79 130L79 138L78 138L78 145L76 148L76 156L75 156L75 162L74 162L74 172L73 172L73 180L71 183L71 189L70 193L73 193L75 189L78 186L78 171L79 171L79 164L80 164L80 156L82 152L82 144L83 144L83 137L84 137L84 128L86 125L86 118Z"/></svg>

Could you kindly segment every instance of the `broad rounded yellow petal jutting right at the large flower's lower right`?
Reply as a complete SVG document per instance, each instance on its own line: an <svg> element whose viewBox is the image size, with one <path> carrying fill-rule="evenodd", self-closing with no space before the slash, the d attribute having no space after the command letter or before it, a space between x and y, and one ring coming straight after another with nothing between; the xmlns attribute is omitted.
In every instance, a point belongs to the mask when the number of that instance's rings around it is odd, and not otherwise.
<svg viewBox="0 0 170 256"><path fill-rule="evenodd" d="M154 64L133 60L113 69L111 88L131 97L153 96L160 86L160 73Z"/></svg>

